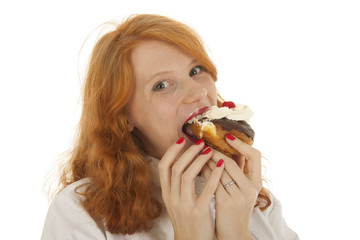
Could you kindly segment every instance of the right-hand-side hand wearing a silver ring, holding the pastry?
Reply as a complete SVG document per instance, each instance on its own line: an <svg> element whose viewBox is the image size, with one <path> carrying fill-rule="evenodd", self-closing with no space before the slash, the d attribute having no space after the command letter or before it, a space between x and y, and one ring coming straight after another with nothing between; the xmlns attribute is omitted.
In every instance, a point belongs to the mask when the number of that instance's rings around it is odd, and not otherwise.
<svg viewBox="0 0 360 240"><path fill-rule="evenodd" d="M219 159L225 161L221 185L215 193L215 234L219 240L251 239L250 216L262 188L261 153L237 138L234 140L227 138L226 141L240 153L241 157L234 161L214 151L212 157L214 162L209 161L208 167L203 169L204 177L208 178L215 169L216 162ZM245 161L247 161L248 173L244 173ZM232 181L235 184L224 187Z"/></svg>

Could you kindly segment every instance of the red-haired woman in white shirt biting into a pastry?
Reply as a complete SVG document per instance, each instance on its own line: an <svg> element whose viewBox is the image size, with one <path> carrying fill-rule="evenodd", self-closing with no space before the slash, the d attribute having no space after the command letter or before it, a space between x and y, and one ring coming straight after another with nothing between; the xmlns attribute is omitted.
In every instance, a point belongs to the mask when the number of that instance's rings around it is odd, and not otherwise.
<svg viewBox="0 0 360 240"><path fill-rule="evenodd" d="M172 19L137 15L104 35L42 239L298 239L262 188L258 150L229 135L234 161L184 138L189 115L221 103L216 79L197 34Z"/></svg>

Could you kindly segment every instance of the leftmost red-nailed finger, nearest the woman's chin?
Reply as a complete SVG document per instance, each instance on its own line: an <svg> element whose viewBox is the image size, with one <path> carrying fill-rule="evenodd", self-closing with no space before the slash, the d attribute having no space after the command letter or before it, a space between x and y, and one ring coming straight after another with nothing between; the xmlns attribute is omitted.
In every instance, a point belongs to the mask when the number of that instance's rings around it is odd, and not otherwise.
<svg viewBox="0 0 360 240"><path fill-rule="evenodd" d="M163 193L170 193L171 166L177 159L177 156L185 146L185 139L181 137L175 144L171 145L159 161L160 185Z"/></svg>

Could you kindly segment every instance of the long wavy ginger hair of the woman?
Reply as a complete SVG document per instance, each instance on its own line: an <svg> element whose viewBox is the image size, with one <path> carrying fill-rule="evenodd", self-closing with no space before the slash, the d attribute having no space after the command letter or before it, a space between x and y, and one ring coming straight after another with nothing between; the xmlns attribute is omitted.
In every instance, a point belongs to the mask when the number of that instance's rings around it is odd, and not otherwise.
<svg viewBox="0 0 360 240"><path fill-rule="evenodd" d="M111 233L146 231L162 211L152 195L150 165L141 143L127 127L135 85L132 49L149 39L178 46L204 65L214 81L217 79L216 67L198 34L167 17L131 16L97 41L85 77L79 134L70 159L61 169L60 191L89 178L79 193L84 197L83 207ZM263 195L269 196L267 192Z"/></svg>

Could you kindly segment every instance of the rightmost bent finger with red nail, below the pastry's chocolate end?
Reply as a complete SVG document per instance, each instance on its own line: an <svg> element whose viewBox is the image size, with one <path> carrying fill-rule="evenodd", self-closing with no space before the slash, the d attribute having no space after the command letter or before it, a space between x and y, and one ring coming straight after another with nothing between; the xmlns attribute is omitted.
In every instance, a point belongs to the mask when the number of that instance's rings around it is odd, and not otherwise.
<svg viewBox="0 0 360 240"><path fill-rule="evenodd" d="M261 152L230 134L226 136L226 141L247 159L249 178L256 181L261 179Z"/></svg>

